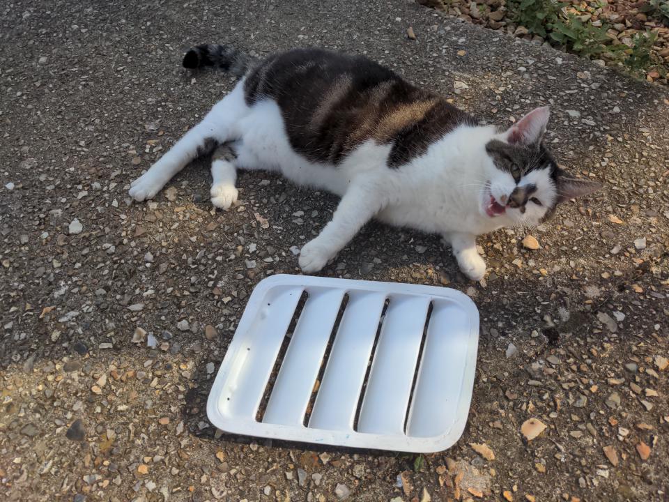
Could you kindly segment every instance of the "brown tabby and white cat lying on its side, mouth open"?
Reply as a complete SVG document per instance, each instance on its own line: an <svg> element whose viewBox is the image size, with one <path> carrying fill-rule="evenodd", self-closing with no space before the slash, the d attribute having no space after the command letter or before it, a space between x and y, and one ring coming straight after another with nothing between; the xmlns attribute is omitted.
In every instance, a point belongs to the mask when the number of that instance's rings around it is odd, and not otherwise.
<svg viewBox="0 0 669 502"><path fill-rule="evenodd" d="M238 198L236 169L278 171L341 197L332 220L298 259L320 271L372 218L441 234L461 271L481 280L476 237L532 227L560 202L599 190L557 166L542 143L539 107L506 130L483 126L444 98L363 56L297 49L256 61L225 45L199 45L185 68L213 66L240 82L162 158L132 181L151 199L199 155L213 153L211 202Z"/></svg>

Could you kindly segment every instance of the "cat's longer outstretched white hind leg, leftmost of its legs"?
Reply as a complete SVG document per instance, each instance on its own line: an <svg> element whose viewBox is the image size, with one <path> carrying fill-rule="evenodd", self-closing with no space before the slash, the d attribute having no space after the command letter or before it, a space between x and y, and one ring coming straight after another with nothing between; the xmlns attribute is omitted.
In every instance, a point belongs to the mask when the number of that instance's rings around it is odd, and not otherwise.
<svg viewBox="0 0 669 502"><path fill-rule="evenodd" d="M211 109L204 119L186 132L150 169L130 183L129 195L136 201L153 198L191 160L213 151L236 137L235 125L248 112L243 82Z"/></svg>

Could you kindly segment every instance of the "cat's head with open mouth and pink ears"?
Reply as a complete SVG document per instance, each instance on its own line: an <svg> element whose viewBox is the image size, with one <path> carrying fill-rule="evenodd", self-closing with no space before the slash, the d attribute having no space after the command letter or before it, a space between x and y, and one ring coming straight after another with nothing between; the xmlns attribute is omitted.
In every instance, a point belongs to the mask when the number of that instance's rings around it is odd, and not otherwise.
<svg viewBox="0 0 669 502"><path fill-rule="evenodd" d="M481 212L487 218L499 218L502 225L538 225L557 204L601 188L557 167L542 142L549 116L548 107L533 109L486 144Z"/></svg>

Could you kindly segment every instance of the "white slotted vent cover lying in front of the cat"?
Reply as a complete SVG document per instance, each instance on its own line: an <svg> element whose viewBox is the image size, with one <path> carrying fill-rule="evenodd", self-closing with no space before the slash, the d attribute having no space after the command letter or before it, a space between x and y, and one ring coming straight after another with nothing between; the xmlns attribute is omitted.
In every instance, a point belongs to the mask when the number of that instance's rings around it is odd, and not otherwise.
<svg viewBox="0 0 669 502"><path fill-rule="evenodd" d="M207 414L235 434L445 450L467 421L478 335L453 289L275 275L249 298Z"/></svg>

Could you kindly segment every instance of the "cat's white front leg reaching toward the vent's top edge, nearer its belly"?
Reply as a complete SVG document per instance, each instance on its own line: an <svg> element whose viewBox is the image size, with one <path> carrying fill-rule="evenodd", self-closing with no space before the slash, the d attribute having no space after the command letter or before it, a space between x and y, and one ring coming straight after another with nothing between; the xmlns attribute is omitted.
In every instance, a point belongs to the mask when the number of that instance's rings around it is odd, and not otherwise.
<svg viewBox="0 0 669 502"><path fill-rule="evenodd" d="M358 183L348 188L341 198L332 221L321 234L300 251L300 268L305 273L318 272L334 258L358 231L383 208L378 184Z"/></svg>

